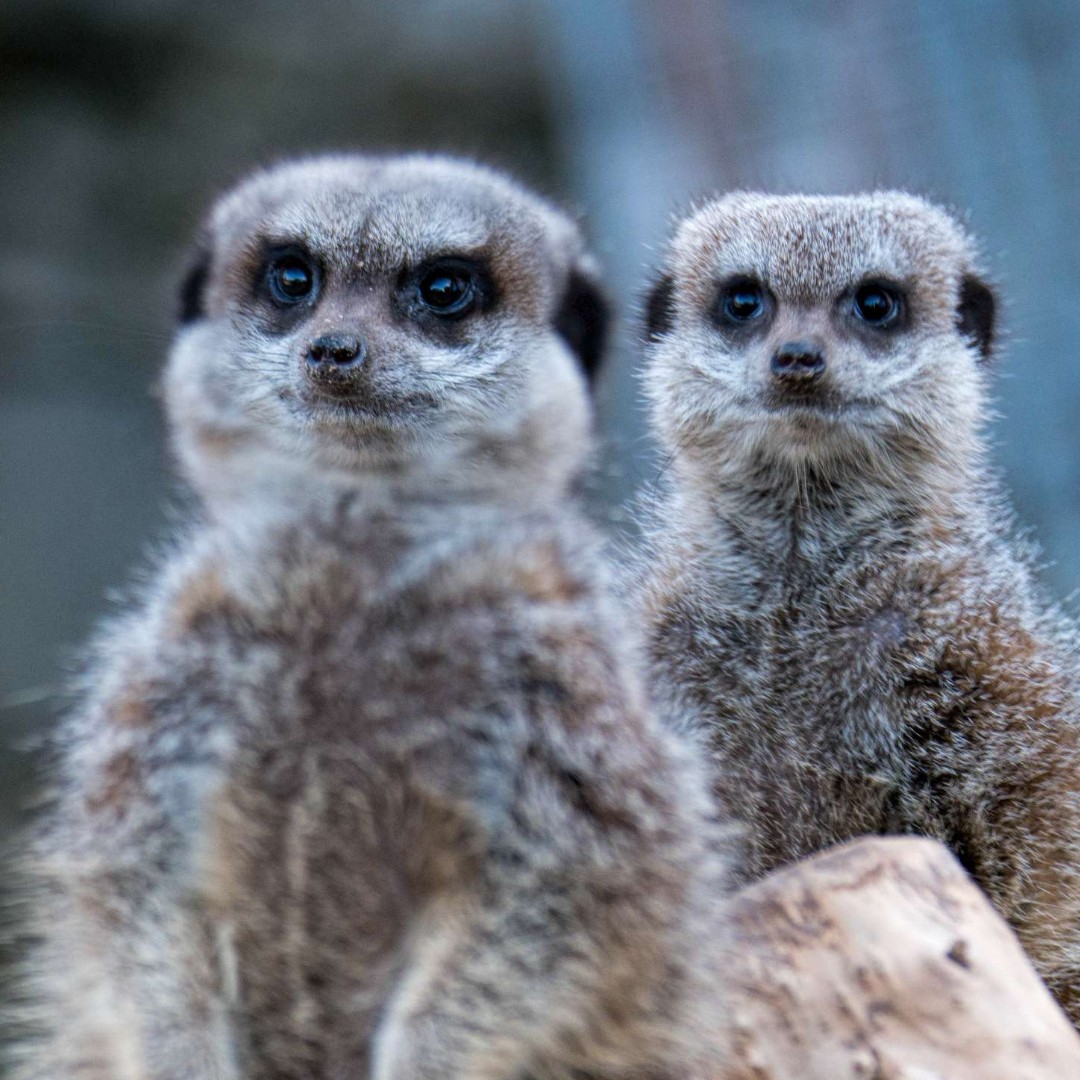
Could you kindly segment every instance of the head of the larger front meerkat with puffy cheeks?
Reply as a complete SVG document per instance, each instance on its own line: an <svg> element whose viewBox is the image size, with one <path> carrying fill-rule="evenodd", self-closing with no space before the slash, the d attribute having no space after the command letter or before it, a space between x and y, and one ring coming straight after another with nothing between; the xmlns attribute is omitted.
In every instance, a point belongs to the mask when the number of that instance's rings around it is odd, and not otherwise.
<svg viewBox="0 0 1080 1080"><path fill-rule="evenodd" d="M181 289L181 464L208 498L297 467L561 484L589 443L595 279L568 217L476 165L257 173L214 207Z"/></svg>

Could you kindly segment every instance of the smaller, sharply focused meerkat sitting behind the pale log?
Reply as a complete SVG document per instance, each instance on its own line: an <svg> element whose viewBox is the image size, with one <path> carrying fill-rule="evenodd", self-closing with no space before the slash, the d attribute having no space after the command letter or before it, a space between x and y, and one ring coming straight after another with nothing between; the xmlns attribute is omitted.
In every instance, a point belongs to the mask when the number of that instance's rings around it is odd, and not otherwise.
<svg viewBox="0 0 1080 1080"><path fill-rule="evenodd" d="M685 219L649 303L670 462L639 598L744 877L936 837L1080 1021L1078 640L987 463L994 314L971 239L918 198Z"/></svg>

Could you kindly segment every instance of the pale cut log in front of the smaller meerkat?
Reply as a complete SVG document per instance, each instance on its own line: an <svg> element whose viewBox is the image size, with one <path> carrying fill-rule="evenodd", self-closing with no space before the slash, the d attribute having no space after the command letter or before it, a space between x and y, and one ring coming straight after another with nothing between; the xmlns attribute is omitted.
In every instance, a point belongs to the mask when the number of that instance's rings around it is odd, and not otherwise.
<svg viewBox="0 0 1080 1080"><path fill-rule="evenodd" d="M959 863L866 839L733 902L717 1080L1080 1080L1080 1036Z"/></svg>

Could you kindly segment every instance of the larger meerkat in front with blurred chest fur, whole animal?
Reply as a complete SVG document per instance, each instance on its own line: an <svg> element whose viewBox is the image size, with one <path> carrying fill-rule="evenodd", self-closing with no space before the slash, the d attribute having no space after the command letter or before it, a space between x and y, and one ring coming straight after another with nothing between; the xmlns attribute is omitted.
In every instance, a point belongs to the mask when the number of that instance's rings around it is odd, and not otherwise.
<svg viewBox="0 0 1080 1080"><path fill-rule="evenodd" d="M705 781L567 499L593 276L568 219L446 159L218 203L165 379L204 513L66 732L23 1076L707 1059Z"/></svg>

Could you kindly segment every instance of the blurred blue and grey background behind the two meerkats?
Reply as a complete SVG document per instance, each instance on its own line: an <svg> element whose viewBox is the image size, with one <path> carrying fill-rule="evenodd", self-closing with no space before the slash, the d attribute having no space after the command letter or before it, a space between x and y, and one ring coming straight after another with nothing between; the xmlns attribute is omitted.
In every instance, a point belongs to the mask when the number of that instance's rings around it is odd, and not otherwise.
<svg viewBox="0 0 1080 1080"><path fill-rule="evenodd" d="M1007 305L998 460L1080 585L1075 0L3 0L0 833L107 592L167 529L152 387L185 246L251 165L490 160L582 215L623 323L600 499L654 464L634 316L672 213L899 185L970 214Z"/></svg>

